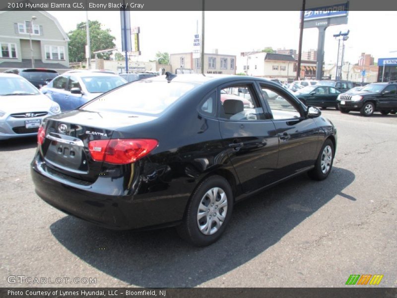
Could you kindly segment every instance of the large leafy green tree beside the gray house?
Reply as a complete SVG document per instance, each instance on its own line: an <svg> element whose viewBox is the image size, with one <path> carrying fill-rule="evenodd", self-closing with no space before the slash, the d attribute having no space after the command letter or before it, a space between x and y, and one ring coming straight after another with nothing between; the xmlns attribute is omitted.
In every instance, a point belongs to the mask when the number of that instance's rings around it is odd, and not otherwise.
<svg viewBox="0 0 397 298"><path fill-rule="evenodd" d="M93 52L116 47L114 43L116 38L110 34L110 29L101 29L101 23L98 21L88 21L88 25L90 29L91 57L94 57ZM87 43L85 22L78 23L76 29L70 31L67 36L70 39L68 43L69 61L84 61L85 45ZM98 54L98 58L109 60L111 54L111 52Z"/></svg>

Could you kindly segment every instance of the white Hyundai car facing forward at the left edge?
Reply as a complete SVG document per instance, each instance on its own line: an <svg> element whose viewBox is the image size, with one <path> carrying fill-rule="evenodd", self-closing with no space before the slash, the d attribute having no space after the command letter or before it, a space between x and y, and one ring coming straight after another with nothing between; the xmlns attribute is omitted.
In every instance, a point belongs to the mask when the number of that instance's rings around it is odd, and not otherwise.
<svg viewBox="0 0 397 298"><path fill-rule="evenodd" d="M35 136L43 118L60 112L22 76L0 73L0 140Z"/></svg>

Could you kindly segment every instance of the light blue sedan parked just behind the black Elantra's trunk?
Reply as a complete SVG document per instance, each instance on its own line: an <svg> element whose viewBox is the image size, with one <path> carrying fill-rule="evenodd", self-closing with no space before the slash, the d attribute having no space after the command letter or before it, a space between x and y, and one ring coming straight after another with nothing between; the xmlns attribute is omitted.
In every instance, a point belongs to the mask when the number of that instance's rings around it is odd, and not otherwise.
<svg viewBox="0 0 397 298"><path fill-rule="evenodd" d="M125 83L127 80L116 74L77 72L59 75L40 90L64 112Z"/></svg>

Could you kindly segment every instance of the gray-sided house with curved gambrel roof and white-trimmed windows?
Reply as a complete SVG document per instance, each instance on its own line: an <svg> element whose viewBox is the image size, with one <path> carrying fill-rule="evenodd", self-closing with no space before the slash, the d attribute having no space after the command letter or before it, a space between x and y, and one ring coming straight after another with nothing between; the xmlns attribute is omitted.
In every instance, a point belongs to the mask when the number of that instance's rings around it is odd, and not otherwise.
<svg viewBox="0 0 397 298"><path fill-rule="evenodd" d="M31 28L34 67L61 72L69 68L69 39L58 20L47 11L0 11L0 28L0 72L32 67Z"/></svg>

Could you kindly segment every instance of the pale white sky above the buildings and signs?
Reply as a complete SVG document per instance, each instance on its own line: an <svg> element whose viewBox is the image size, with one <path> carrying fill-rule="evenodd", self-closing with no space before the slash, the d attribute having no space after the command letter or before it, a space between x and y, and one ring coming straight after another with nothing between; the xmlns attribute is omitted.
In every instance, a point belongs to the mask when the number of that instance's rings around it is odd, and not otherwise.
<svg viewBox="0 0 397 298"><path fill-rule="evenodd" d="M85 11L49 11L64 30L75 29L86 19ZM88 11L90 20L98 20L111 29L116 47L121 49L119 11ZM297 49L299 11L206 11L205 53L218 49L219 54L236 55L265 47ZM397 57L397 41L391 32L396 26L397 11L349 11L348 23L328 27L325 39L325 62L335 63L338 42L332 36L350 30L345 42L345 62L358 63L361 53L375 58ZM156 52L192 52L194 34L201 11L131 11L131 26L140 27L141 56L138 61L155 58ZM317 49L318 29L303 31L302 51Z"/></svg>

